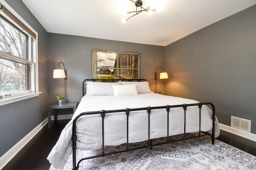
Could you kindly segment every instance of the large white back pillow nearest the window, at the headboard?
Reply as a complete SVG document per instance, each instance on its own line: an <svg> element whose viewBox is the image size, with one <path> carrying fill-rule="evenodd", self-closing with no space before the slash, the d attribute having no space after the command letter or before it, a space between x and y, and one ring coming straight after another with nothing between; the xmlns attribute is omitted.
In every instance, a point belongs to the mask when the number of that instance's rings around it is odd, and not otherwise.
<svg viewBox="0 0 256 170"><path fill-rule="evenodd" d="M113 84L121 84L120 82L86 82L87 96L113 96Z"/></svg>

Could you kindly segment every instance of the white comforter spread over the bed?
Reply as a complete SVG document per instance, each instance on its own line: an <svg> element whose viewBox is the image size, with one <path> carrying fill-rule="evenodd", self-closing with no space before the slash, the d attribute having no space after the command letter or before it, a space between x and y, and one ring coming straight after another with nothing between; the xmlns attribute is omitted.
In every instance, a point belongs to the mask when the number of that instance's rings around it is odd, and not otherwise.
<svg viewBox="0 0 256 170"><path fill-rule="evenodd" d="M72 123L73 119L82 112L154 107L180 104L196 104L198 101L165 96L154 93L139 94L138 96L84 96L74 113L72 120L63 129L60 138L47 159L57 169L62 169L72 153ZM198 106L186 110L186 132L199 131ZM139 113L139 114L138 114ZM183 108L171 108L169 117L169 136L184 133ZM77 149L90 150L102 147L102 118L100 115L86 115L78 119ZM212 129L212 111L202 106L201 131ZM166 109L152 110L150 113L150 138L165 137L167 133ZM220 134L218 119L215 120L215 137ZM129 143L148 139L148 113L135 111L129 115ZM126 114L110 113L104 118L104 145L120 145L126 143Z"/></svg>

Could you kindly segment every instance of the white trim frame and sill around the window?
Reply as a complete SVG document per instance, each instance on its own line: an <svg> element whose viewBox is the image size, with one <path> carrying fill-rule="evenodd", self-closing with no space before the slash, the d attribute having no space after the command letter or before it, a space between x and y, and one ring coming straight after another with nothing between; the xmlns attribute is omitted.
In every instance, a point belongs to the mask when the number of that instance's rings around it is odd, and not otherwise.
<svg viewBox="0 0 256 170"><path fill-rule="evenodd" d="M4 0L0 0L0 3L2 4L2 6L4 6L5 8L8 9L9 12L11 12L18 20L20 20L24 25L26 25L26 27L28 27L28 29L30 29L33 33L36 34L36 39L35 39L35 61L34 61L34 64L35 64L35 90L33 92L26 92L25 94L23 95L19 95L19 96L15 96L15 97L10 97L10 98L4 98L4 99L0 99L0 106L2 105L6 105L6 104L10 104L10 103L13 103L13 102L18 102L18 101L21 101L21 100L25 100L25 99L28 99L28 98L33 98L33 97L36 97L36 96L39 96L40 93L42 92L39 92L39 80L38 80L38 33L36 32L36 30L34 30L23 18L21 18L21 16L15 12ZM9 17L4 14L4 12L0 11L0 14L2 16L4 16L7 20L9 20ZM19 27L21 30L22 28L16 24L14 21L12 20L9 20L12 24L14 24L15 26ZM29 51L28 51L29 52ZM31 53L31 52L29 52Z"/></svg>

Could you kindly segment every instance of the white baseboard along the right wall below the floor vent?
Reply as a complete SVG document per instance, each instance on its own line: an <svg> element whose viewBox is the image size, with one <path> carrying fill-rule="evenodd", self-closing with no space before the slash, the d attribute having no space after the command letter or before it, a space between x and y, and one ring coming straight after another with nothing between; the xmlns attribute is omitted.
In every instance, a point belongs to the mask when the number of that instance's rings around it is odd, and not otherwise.
<svg viewBox="0 0 256 170"><path fill-rule="evenodd" d="M234 127L230 127L230 126L227 126L227 125L223 125L221 123L220 123L220 129L223 130L223 131L227 131L229 133L233 133L233 134L238 135L240 137L244 137L246 139L249 139L251 141L256 142L256 134L254 134L254 133L249 133L249 132L246 132L246 131L242 131L240 129L236 129Z"/></svg>

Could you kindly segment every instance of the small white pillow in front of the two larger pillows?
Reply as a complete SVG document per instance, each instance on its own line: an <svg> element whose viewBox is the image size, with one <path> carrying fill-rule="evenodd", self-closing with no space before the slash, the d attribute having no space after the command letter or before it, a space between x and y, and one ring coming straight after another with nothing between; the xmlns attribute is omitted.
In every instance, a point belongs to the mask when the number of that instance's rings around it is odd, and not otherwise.
<svg viewBox="0 0 256 170"><path fill-rule="evenodd" d="M112 85L114 96L138 95L136 84Z"/></svg>

